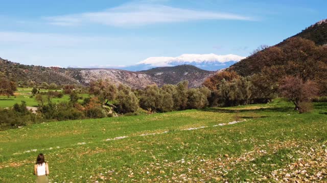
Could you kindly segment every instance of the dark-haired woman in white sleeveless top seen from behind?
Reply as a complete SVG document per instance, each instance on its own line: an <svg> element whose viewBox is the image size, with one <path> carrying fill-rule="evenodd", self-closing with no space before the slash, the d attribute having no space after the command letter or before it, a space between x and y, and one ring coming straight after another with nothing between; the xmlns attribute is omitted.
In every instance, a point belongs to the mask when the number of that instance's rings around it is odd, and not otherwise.
<svg viewBox="0 0 327 183"><path fill-rule="evenodd" d="M39 154L34 165L34 175L36 175L36 183L48 183L49 165L44 161L44 155Z"/></svg>

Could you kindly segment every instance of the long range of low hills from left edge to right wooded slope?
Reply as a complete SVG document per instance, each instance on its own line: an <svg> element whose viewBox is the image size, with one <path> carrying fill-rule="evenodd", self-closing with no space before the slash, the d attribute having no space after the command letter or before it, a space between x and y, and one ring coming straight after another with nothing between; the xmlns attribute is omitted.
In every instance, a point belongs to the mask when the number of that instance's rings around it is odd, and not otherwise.
<svg viewBox="0 0 327 183"><path fill-rule="evenodd" d="M154 68L146 71L131 72L119 69L64 69L41 66L27 66L0 58L0 72L10 75L17 82L82 84L88 85L91 80L109 79L116 84L127 84L132 88L143 88L149 84L177 84L189 81L190 87L198 87L204 79L214 74L195 66L182 65L175 67Z"/></svg>

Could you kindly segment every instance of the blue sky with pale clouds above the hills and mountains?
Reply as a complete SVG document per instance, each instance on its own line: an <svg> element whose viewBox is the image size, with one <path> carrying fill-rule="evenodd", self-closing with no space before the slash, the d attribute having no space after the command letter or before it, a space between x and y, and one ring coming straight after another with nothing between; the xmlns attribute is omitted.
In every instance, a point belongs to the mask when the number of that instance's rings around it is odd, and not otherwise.
<svg viewBox="0 0 327 183"><path fill-rule="evenodd" d="M126 66L182 54L248 56L327 18L327 1L0 1L0 57Z"/></svg>

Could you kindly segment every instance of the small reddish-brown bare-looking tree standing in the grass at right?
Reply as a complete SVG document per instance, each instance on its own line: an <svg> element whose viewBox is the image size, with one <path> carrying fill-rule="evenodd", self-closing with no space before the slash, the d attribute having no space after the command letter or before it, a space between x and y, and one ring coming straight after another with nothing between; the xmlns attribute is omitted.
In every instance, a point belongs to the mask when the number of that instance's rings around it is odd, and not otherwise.
<svg viewBox="0 0 327 183"><path fill-rule="evenodd" d="M309 103L318 95L319 89L314 81L303 81L299 77L286 76L280 82L279 92L294 103L296 110L303 113L310 109Z"/></svg>

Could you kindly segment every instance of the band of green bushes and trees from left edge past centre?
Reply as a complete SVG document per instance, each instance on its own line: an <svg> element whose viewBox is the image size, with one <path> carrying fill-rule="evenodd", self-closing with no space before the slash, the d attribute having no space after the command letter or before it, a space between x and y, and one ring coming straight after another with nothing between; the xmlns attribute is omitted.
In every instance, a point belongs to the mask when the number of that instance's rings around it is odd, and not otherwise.
<svg viewBox="0 0 327 183"><path fill-rule="evenodd" d="M67 92L69 90L69 92ZM0 109L0 129L17 128L52 120L73 120L111 117L114 115L137 115L139 113L169 112L184 109L199 109L208 106L211 91L206 87L189 88L188 81L177 85L158 87L149 85L144 89L132 89L127 85L116 86L108 80L91 81L87 88L89 97L82 98L83 89L67 85L62 92L32 93L38 109L32 112L26 102L11 108ZM53 98L69 95L69 101L54 103Z"/></svg>

